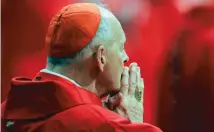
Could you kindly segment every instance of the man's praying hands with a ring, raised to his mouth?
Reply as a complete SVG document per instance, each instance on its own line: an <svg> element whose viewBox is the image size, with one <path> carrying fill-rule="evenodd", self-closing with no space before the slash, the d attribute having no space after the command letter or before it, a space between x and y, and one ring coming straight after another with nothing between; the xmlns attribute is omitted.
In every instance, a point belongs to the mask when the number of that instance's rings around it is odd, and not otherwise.
<svg viewBox="0 0 214 132"><path fill-rule="evenodd" d="M112 110L132 122L143 122L143 89L140 68L137 63L124 67L120 91L108 95L104 107Z"/></svg>

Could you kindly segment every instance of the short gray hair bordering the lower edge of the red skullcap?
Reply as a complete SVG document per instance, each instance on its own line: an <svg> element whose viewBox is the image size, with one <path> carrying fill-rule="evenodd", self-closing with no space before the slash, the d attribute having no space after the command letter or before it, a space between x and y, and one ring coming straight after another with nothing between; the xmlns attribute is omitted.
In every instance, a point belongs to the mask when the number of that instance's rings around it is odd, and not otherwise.
<svg viewBox="0 0 214 132"><path fill-rule="evenodd" d="M47 59L48 64L52 64L53 66L63 66L72 63L81 63L83 61L83 58L86 56L86 53L88 53L88 51L95 47L98 47L101 44L105 45L109 41L112 41L114 39L108 18L115 16L108 9L100 5L97 5L97 7L99 8L100 11L101 21L98 30L96 32L96 35L92 39L92 41L75 55L71 55L65 58L53 58L49 56Z"/></svg>

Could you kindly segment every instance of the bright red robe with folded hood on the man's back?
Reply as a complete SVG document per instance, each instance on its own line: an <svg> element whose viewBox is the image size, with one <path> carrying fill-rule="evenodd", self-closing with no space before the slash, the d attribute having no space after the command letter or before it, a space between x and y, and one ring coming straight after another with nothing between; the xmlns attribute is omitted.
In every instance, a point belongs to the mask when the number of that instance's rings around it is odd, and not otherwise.
<svg viewBox="0 0 214 132"><path fill-rule="evenodd" d="M2 128L11 132L161 132L103 108L94 93L59 76L40 72L11 86L2 104Z"/></svg>

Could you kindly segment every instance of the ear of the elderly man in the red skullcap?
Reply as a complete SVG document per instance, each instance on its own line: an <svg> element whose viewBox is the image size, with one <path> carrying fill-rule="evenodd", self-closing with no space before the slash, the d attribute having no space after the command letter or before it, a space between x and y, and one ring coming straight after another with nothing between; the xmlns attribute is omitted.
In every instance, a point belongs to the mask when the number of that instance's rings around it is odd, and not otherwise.
<svg viewBox="0 0 214 132"><path fill-rule="evenodd" d="M106 53L104 46L99 46L97 49L96 60L101 72L104 71L104 67L106 65Z"/></svg>

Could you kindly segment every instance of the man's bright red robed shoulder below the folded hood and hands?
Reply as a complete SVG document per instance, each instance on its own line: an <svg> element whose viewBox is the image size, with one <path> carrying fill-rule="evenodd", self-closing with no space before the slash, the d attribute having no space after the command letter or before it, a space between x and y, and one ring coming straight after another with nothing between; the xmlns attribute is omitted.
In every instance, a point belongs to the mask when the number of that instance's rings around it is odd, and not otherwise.
<svg viewBox="0 0 214 132"><path fill-rule="evenodd" d="M94 132L161 132L153 125L131 123L128 119L98 105L79 105L60 112L51 121L60 122L68 130Z"/></svg>

